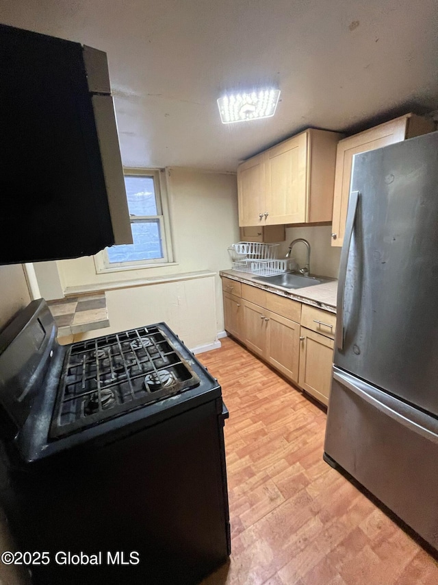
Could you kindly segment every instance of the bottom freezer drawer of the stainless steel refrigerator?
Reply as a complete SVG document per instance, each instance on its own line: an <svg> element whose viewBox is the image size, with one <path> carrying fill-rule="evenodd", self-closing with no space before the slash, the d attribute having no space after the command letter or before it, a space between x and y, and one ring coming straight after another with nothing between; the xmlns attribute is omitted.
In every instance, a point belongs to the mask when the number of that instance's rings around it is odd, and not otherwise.
<svg viewBox="0 0 438 585"><path fill-rule="evenodd" d="M438 548L435 418L335 367L324 451Z"/></svg>

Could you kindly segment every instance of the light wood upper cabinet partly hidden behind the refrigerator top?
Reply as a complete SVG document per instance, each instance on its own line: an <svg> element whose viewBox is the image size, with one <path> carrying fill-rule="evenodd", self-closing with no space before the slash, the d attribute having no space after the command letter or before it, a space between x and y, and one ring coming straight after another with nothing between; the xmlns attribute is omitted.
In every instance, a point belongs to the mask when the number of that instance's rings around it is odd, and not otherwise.
<svg viewBox="0 0 438 585"><path fill-rule="evenodd" d="M407 114L339 141L333 198L332 246L342 246L344 241L353 156L420 136L420 134L427 134L433 130L435 130L433 121Z"/></svg>

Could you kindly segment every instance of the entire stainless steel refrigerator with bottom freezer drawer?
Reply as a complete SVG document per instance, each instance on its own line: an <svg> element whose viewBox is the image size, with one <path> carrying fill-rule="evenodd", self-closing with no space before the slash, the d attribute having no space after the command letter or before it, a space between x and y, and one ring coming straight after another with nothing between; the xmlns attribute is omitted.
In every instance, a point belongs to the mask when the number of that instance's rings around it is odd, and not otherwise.
<svg viewBox="0 0 438 585"><path fill-rule="evenodd" d="M438 549L438 132L355 156L324 459Z"/></svg>

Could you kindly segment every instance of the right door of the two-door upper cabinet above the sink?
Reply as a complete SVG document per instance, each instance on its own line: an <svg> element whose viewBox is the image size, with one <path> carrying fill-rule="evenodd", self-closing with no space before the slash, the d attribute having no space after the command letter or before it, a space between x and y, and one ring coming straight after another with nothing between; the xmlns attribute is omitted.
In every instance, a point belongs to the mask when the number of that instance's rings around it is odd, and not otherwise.
<svg viewBox="0 0 438 585"><path fill-rule="evenodd" d="M307 144L303 132L266 151L266 224L307 222Z"/></svg>

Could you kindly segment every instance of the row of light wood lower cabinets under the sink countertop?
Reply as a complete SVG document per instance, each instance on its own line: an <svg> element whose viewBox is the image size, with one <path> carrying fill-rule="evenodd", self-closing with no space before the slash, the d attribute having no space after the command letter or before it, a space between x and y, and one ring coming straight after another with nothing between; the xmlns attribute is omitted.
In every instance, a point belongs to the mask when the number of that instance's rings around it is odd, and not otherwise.
<svg viewBox="0 0 438 585"><path fill-rule="evenodd" d="M287 379L327 405L333 363L334 342L331 337L335 333L333 313L309 305L301 307L299 302L244 284L241 298L227 291L228 280L222 280L226 331ZM318 331L326 327L328 333L322 335L302 324Z"/></svg>

